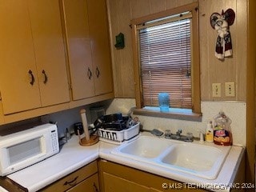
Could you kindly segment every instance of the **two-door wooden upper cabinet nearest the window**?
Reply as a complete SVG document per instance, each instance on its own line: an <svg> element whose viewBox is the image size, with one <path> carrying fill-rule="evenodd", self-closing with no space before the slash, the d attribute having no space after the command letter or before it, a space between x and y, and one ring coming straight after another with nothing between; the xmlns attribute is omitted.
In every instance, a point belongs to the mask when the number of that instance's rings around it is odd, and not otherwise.
<svg viewBox="0 0 256 192"><path fill-rule="evenodd" d="M106 2L62 0L73 99L113 91Z"/></svg>

